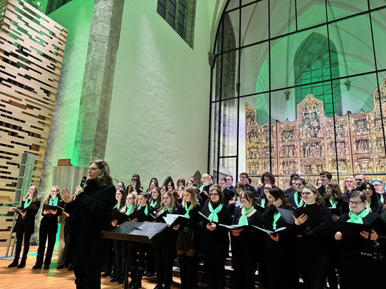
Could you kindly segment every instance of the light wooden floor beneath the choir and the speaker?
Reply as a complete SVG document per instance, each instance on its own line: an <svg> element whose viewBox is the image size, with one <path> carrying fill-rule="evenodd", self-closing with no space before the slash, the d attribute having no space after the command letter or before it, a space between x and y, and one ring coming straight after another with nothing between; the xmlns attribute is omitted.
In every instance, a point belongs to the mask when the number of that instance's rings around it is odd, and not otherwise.
<svg viewBox="0 0 386 289"><path fill-rule="evenodd" d="M36 253L38 246L31 246L30 251ZM6 248L0 248L0 256L4 257ZM67 269L56 270L56 254L54 252L53 263L49 270L38 269L33 270L35 265L36 254L28 256L25 268L8 268L12 260L4 260L0 258L0 288L1 289L45 289L45 288L75 288L75 277L73 271ZM181 288L180 278L173 277L171 288ZM153 289L156 284L156 277L143 278L142 286L146 289ZM122 285L111 283L110 278L101 278L101 288L104 289L121 289ZM205 288L200 286L200 288Z"/></svg>

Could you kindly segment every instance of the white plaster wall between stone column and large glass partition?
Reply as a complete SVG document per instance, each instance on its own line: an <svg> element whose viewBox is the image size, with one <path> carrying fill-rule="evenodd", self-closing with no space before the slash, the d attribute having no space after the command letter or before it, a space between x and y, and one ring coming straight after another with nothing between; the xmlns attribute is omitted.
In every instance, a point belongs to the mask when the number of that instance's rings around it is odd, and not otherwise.
<svg viewBox="0 0 386 289"><path fill-rule="evenodd" d="M125 1L105 157L113 178L128 184L140 174L147 189L151 177L206 171L214 4L197 1L192 49L156 0Z"/></svg>

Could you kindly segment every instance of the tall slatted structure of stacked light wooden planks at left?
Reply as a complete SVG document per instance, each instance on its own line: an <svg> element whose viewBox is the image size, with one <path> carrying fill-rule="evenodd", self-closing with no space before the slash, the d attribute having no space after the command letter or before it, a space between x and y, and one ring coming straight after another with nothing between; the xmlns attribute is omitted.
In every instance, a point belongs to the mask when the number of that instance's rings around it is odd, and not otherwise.
<svg viewBox="0 0 386 289"><path fill-rule="evenodd" d="M66 38L65 28L31 4L0 1L1 204L14 201L23 152L36 155L32 184L39 186ZM3 231L9 207L0 210Z"/></svg>

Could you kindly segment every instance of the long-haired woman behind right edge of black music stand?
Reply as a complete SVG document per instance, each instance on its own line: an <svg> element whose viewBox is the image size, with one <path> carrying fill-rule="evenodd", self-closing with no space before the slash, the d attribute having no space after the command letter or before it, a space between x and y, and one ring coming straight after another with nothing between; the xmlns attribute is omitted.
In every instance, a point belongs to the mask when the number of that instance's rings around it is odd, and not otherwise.
<svg viewBox="0 0 386 289"><path fill-rule="evenodd" d="M173 214L176 211L174 196L171 191L167 191L162 196L161 207L158 209L156 217L161 214ZM156 257L157 285L155 289L170 289L173 280L173 263L176 256L176 237L177 232L173 228L166 228L153 241L153 252ZM165 285L163 285L165 284Z"/></svg>

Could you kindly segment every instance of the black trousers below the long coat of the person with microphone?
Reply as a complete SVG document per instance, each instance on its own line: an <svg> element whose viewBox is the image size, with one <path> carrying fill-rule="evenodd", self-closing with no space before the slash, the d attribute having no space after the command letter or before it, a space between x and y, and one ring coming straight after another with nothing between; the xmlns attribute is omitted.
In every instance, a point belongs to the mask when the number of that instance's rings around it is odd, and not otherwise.
<svg viewBox="0 0 386 289"><path fill-rule="evenodd" d="M101 288L101 268L73 266L75 284L77 289Z"/></svg>

